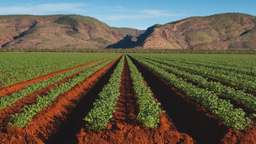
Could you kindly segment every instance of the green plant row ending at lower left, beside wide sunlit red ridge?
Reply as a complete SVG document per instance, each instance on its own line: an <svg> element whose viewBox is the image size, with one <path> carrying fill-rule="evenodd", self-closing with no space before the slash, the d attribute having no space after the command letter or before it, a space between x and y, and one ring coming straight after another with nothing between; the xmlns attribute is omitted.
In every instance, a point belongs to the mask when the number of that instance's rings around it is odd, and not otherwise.
<svg viewBox="0 0 256 144"><path fill-rule="evenodd" d="M106 66L113 59L114 58L78 74L77 77L70 79L68 82L61 83L57 88L52 88L46 96L38 96L36 103L26 105L22 108L21 113L11 115L11 122L8 123L8 126L23 127L25 124L28 124L34 115L38 114L42 108L52 104L60 94L71 90L73 86L83 82L86 78Z"/></svg>

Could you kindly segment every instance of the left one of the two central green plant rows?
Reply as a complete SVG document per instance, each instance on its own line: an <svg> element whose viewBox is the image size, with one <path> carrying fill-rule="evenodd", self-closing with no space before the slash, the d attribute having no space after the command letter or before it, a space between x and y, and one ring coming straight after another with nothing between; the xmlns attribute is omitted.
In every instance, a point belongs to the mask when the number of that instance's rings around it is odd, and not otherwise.
<svg viewBox="0 0 256 144"><path fill-rule="evenodd" d="M115 105L118 100L121 74L124 68L124 56L116 66L113 74L110 76L108 84L98 94L99 99L93 104L93 108L84 118L87 122L86 127L93 130L102 130L108 126L113 112L116 111Z"/></svg>

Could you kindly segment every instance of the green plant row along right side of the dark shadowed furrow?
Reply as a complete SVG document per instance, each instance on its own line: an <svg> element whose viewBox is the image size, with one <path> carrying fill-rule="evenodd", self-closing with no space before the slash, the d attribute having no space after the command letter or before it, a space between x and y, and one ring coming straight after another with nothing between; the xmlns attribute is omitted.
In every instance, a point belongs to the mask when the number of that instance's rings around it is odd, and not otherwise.
<svg viewBox="0 0 256 144"><path fill-rule="evenodd" d="M164 69L154 66L149 62L138 59L134 56L132 57L138 60L142 65L156 72L178 90L184 92L186 96L189 96L202 104L207 110L211 111L216 118L222 120L227 126L237 130L243 130L244 128L251 126L252 121L250 118L245 116L246 113L241 108L234 108L229 100L219 99L216 94L213 94L204 88L194 86L186 80L178 78L174 74L168 73Z"/></svg>

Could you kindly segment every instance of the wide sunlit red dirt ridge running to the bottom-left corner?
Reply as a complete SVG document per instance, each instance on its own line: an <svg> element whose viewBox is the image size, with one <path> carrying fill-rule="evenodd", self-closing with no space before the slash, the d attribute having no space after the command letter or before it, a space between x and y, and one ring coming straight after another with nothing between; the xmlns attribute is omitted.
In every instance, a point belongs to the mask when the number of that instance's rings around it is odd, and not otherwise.
<svg viewBox="0 0 256 144"><path fill-rule="evenodd" d="M119 59L120 57L116 58L110 64L92 74L89 78L84 80L84 82L74 86L72 90L58 96L53 104L47 108L43 108L41 112L32 118L30 124L26 124L24 128L12 126L6 128L6 132L0 132L2 136L0 137L0 142L24 144L47 143L46 140L50 138L52 134L58 132L61 124L65 122L68 115L72 113L72 110L77 106L78 102ZM73 117L73 119L76 119L76 117Z"/></svg>

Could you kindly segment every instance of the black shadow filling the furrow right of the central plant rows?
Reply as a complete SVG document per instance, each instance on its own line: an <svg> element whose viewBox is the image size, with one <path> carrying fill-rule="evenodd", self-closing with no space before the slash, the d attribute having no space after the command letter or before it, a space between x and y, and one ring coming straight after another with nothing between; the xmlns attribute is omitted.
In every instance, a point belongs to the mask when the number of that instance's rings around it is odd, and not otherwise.
<svg viewBox="0 0 256 144"><path fill-rule="evenodd" d="M209 118L206 112L200 110L201 106L198 108L196 102L186 98L180 91L175 90L170 84L166 84L162 78L133 58L131 59L179 132L190 135L199 144L218 144L221 142L228 132L225 125L219 125L218 120Z"/></svg>

